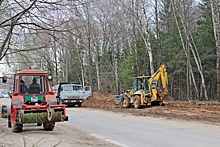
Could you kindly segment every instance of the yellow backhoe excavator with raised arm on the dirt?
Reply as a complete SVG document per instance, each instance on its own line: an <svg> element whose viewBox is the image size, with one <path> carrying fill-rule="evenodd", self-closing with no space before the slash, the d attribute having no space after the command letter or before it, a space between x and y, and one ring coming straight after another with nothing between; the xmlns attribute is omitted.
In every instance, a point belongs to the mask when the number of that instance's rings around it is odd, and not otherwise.
<svg viewBox="0 0 220 147"><path fill-rule="evenodd" d="M152 76L137 76L133 78L132 89L124 93L123 107L141 108L147 105L163 104L163 97L168 92L168 73L165 65Z"/></svg>

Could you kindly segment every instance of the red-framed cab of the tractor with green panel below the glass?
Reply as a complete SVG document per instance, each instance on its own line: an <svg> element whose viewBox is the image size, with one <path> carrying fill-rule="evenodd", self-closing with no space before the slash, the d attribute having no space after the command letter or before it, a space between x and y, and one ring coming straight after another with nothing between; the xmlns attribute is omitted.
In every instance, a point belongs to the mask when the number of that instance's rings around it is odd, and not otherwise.
<svg viewBox="0 0 220 147"><path fill-rule="evenodd" d="M23 99L22 104L46 104L50 97L50 104L57 104L52 92L48 74L43 70L22 70L14 75L14 93L12 97ZM46 98L46 99L45 99ZM12 99L13 100L13 99ZM18 103L17 103L18 104Z"/></svg>

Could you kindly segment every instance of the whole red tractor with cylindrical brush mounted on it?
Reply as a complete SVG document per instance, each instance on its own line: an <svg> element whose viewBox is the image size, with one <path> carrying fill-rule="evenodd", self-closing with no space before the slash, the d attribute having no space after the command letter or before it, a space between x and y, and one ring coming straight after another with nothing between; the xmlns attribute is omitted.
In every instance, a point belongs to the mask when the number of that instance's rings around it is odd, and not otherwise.
<svg viewBox="0 0 220 147"><path fill-rule="evenodd" d="M52 131L55 122L68 121L66 106L57 105L51 80L46 71L31 68L14 75L14 92L8 109L8 127L13 132L21 132L27 123L43 125L44 130Z"/></svg>

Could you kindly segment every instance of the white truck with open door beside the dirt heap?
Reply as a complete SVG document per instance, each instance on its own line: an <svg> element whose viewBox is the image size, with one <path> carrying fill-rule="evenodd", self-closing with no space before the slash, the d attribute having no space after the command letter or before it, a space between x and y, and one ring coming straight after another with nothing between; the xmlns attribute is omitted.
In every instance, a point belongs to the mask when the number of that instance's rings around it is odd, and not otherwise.
<svg viewBox="0 0 220 147"><path fill-rule="evenodd" d="M81 84L63 84L60 87L60 103L68 106L81 107L82 102L92 95L91 86Z"/></svg>

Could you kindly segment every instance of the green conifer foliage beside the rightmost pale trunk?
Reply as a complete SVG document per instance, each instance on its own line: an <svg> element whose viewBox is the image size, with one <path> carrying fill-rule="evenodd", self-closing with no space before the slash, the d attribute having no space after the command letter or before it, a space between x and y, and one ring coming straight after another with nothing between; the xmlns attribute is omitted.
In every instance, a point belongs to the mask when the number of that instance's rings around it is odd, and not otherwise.
<svg viewBox="0 0 220 147"><path fill-rule="evenodd" d="M213 77L216 53L210 1L203 0L200 9L202 10L202 19L197 22L197 31L194 32L193 36L199 49L205 77Z"/></svg>

